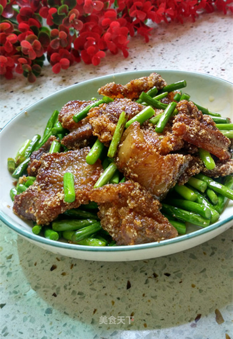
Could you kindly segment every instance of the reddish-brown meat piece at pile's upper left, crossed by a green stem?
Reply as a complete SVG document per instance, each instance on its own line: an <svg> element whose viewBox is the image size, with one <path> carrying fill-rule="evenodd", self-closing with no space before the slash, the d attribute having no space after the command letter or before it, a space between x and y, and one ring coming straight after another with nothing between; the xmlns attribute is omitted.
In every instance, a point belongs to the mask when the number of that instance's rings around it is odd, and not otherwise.
<svg viewBox="0 0 233 339"><path fill-rule="evenodd" d="M93 103L94 101L81 101L81 100L73 100L67 102L59 113L58 119L62 125L62 127L68 129L69 131L74 131L75 129L85 125L88 122L88 119L83 119L80 122L75 122L73 120L73 116L80 112L83 108Z"/></svg>

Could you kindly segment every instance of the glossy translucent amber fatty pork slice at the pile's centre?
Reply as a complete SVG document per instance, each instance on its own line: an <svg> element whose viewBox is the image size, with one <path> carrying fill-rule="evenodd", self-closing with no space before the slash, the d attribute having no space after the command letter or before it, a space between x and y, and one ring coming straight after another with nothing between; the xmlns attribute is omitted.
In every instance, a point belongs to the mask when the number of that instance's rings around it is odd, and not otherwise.
<svg viewBox="0 0 233 339"><path fill-rule="evenodd" d="M190 155L160 155L148 143L138 122L123 134L116 159L118 168L127 179L139 182L158 198L163 198L188 167Z"/></svg>

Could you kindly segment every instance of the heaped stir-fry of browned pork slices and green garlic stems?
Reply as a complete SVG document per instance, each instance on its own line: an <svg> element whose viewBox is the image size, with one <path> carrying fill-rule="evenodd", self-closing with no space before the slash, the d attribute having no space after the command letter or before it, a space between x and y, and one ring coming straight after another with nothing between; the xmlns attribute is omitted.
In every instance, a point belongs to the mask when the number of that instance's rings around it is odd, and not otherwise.
<svg viewBox="0 0 233 339"><path fill-rule="evenodd" d="M13 211L33 232L82 245L133 245L206 227L233 199L233 125L157 73L55 111L8 169ZM216 178L216 179L213 179Z"/></svg>

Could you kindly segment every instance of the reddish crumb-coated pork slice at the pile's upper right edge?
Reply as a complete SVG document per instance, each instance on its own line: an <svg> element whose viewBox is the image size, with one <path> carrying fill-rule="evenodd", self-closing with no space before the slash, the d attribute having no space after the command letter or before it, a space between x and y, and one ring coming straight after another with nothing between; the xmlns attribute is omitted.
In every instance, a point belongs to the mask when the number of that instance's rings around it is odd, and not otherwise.
<svg viewBox="0 0 233 339"><path fill-rule="evenodd" d="M172 126L174 135L206 149L220 160L230 158L230 140L215 127L210 117L198 112L196 106L187 100L179 102L177 109L179 113Z"/></svg>

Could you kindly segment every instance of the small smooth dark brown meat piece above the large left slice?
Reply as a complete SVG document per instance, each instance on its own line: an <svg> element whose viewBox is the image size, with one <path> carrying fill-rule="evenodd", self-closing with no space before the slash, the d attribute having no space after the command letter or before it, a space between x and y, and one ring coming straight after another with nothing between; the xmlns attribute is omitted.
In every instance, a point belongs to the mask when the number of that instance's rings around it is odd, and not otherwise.
<svg viewBox="0 0 233 339"><path fill-rule="evenodd" d="M87 146L93 140L92 127L87 122L81 127L67 134L61 144L68 149L78 149Z"/></svg>

